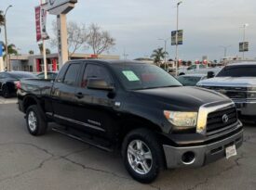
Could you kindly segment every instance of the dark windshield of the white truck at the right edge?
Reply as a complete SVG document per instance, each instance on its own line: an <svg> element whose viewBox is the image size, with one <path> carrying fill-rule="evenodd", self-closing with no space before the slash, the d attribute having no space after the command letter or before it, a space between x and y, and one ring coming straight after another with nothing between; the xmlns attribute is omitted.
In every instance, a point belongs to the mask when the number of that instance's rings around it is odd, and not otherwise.
<svg viewBox="0 0 256 190"><path fill-rule="evenodd" d="M226 66L216 77L256 77L256 65Z"/></svg>

